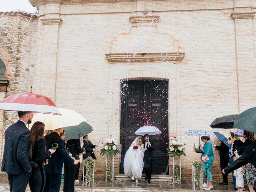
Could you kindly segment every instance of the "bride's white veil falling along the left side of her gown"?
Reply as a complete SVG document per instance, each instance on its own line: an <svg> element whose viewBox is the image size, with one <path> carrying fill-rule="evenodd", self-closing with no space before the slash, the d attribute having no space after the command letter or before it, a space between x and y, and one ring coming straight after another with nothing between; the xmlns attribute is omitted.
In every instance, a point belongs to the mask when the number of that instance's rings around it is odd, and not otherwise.
<svg viewBox="0 0 256 192"><path fill-rule="evenodd" d="M138 136L139 137L139 136ZM133 149L133 146L136 146L136 142L138 140L138 137L136 137L132 144L130 145L129 149L127 150L127 152L125 153L125 157L124 157L124 174L126 176L129 176L130 175L130 166L131 166L131 163L132 163L132 160L134 159L135 157L135 153L136 153L136 150Z"/></svg>

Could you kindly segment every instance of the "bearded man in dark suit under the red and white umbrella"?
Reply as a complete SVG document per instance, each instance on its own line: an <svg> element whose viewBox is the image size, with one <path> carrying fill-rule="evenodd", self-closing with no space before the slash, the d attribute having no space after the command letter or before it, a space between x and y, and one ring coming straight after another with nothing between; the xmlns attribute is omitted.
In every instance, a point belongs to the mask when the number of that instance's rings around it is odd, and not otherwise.
<svg viewBox="0 0 256 192"><path fill-rule="evenodd" d="M4 133L4 155L2 171L8 173L11 192L24 192L32 174L32 162L29 153L30 130L33 112L18 111L18 122L9 126Z"/></svg>

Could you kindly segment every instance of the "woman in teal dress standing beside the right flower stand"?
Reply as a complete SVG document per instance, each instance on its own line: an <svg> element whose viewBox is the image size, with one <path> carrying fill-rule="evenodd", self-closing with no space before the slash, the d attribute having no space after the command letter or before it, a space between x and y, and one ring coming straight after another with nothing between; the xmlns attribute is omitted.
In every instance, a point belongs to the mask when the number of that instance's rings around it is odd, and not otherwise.
<svg viewBox="0 0 256 192"><path fill-rule="evenodd" d="M202 142L204 142L204 146L202 148L201 144L201 149L205 154L205 158L204 158L204 174L206 176L206 180L207 180L207 187L205 190L211 190L213 188L212 186L212 173L211 173L211 169L212 169L212 164L213 164L213 158L214 158L214 153L212 150L212 143L210 142L210 137L209 136L202 136L201 137Z"/></svg>

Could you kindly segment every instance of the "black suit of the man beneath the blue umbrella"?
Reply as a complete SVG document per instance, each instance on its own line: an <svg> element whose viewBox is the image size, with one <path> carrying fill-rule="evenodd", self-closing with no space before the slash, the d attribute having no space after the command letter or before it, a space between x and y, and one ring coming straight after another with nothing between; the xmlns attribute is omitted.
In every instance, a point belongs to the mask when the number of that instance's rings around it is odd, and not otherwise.
<svg viewBox="0 0 256 192"><path fill-rule="evenodd" d="M229 162L229 148L224 144L224 142L221 142L220 146L216 146L216 149L220 152L220 171L228 166ZM228 183L228 176L224 173L222 173L222 180L224 183Z"/></svg>

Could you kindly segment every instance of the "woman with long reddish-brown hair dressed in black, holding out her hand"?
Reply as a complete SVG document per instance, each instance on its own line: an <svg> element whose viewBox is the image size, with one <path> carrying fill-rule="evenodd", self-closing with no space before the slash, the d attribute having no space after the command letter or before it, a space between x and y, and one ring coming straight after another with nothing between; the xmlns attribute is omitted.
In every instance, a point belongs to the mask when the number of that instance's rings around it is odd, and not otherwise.
<svg viewBox="0 0 256 192"><path fill-rule="evenodd" d="M44 139L44 123L37 121L30 130L30 156L38 167L32 170L29 180L31 192L43 192L45 185L44 162L50 158L56 150L49 149L46 152L46 140ZM47 162L46 162L47 163Z"/></svg>

